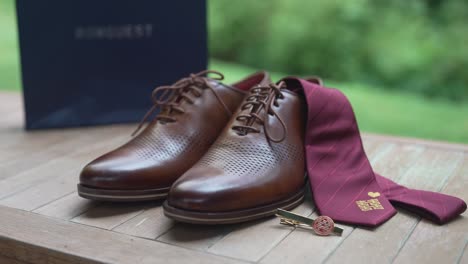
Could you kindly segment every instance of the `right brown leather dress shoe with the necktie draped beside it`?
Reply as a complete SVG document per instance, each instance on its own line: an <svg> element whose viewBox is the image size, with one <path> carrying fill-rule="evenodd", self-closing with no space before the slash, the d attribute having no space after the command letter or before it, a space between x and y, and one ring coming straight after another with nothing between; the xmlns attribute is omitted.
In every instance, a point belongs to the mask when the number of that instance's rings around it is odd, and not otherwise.
<svg viewBox="0 0 468 264"><path fill-rule="evenodd" d="M227 224L302 202L306 105L282 85L251 89L218 140L172 185L166 216Z"/></svg>

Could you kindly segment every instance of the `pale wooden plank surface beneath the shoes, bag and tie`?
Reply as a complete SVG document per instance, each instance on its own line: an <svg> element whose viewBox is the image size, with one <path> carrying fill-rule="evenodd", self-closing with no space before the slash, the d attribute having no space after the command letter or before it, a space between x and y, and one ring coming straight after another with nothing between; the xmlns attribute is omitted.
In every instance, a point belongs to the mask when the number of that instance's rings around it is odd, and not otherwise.
<svg viewBox="0 0 468 264"><path fill-rule="evenodd" d="M20 96L0 93L0 263L468 263L466 213L434 225L408 212L342 237L278 219L230 226L178 224L160 203L78 197L87 162L129 139L130 126L24 132ZM468 200L468 146L366 135L377 172L409 187ZM310 197L294 210L316 216Z"/></svg>

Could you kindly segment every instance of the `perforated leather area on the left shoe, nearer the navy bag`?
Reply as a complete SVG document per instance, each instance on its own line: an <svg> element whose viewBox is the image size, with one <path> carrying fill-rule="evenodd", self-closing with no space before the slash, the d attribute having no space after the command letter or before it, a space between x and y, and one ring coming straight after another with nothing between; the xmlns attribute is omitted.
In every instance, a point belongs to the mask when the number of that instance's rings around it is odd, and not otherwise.
<svg viewBox="0 0 468 264"><path fill-rule="evenodd" d="M141 159L145 160L170 160L182 154L198 159L212 142L213 139L198 132L184 135L184 133L171 134L165 129L153 129L150 133L136 138L131 148ZM193 152L198 155L190 155Z"/></svg>

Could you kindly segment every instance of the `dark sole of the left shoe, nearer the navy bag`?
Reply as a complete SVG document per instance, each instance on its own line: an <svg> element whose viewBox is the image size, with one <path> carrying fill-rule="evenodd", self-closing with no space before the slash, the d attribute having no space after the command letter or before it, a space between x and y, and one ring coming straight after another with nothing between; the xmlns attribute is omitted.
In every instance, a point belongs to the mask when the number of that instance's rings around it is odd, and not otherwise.
<svg viewBox="0 0 468 264"><path fill-rule="evenodd" d="M96 201L139 202L163 200L167 197L169 189L170 187L148 190L108 190L78 184L78 195Z"/></svg>

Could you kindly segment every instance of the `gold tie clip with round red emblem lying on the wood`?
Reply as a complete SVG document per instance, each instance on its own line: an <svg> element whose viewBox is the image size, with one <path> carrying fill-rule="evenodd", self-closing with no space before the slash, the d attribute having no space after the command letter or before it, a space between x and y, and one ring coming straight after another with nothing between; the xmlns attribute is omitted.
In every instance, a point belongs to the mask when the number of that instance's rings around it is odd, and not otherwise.
<svg viewBox="0 0 468 264"><path fill-rule="evenodd" d="M279 208L276 211L276 216L280 218L280 224L282 225L312 227L314 232L319 236L328 236L332 233L337 236L343 234L343 229L336 227L335 222L328 216L322 215L317 217L317 219L312 219Z"/></svg>

